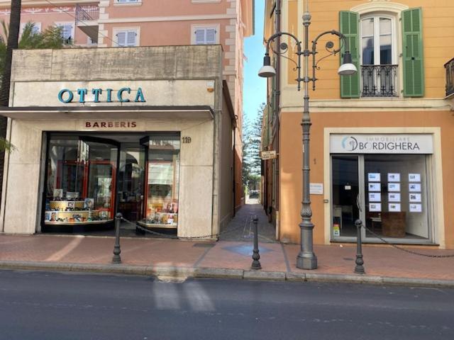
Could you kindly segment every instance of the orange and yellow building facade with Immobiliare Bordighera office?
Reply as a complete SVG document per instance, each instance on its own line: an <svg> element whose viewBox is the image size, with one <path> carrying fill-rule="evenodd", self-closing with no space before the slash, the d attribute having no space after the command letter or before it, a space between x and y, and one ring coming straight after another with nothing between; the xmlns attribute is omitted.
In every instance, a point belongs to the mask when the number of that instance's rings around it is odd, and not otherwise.
<svg viewBox="0 0 454 340"><path fill-rule="evenodd" d="M267 1L265 40L277 30L302 40L306 5ZM341 56L328 57L309 93L314 243L355 242L360 218L365 242L453 249L454 4L311 0L309 11L309 41L339 30L358 69L339 77ZM317 58L328 40L339 46L335 38L319 41ZM295 61L294 44L282 40ZM294 62L273 57L279 77L268 82L262 147L278 158L264 162L263 203L279 239L299 242L303 94Z"/></svg>

